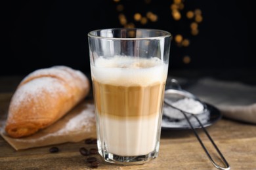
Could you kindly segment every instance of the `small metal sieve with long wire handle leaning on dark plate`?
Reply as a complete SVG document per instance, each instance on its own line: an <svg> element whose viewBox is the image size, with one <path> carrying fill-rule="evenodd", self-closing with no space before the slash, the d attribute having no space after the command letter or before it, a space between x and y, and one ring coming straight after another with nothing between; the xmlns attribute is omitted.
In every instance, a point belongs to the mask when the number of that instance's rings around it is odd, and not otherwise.
<svg viewBox="0 0 256 170"><path fill-rule="evenodd" d="M213 165L217 168L217 169L223 169L223 170L228 170L230 169L230 165L228 164L228 162L226 161L226 159L224 158L223 154L221 153L221 151L219 150L219 148L217 147L217 145L214 143L213 139L211 139L211 136L209 135L209 133L207 132L207 130L205 129L205 127L203 127L203 124L200 122L200 120L198 119L198 117L196 116L196 114L200 114L200 112L191 112L188 110L184 110L181 107L177 107L175 105L173 105L173 103L175 103L176 101L180 100L180 99L194 99L195 101L198 101L200 103L202 103L203 105L203 109L202 109L202 113L205 111L205 109L207 109L207 106L200 101L200 99L198 99L198 97L196 97L195 95L193 95L190 92L186 92L185 90L182 90L181 86L179 85L179 82L175 79L171 79L171 87L175 87L172 89L168 89L165 90L165 93L168 93L169 96L165 97L164 99L164 103L167 104L168 106L172 107L173 109L177 109L179 111L182 112L182 114L184 115L184 118L186 118L189 126L191 127L191 129L194 131L194 134L196 135L196 138L198 139L198 141L200 142L203 150L205 151L205 153L207 154L209 160L211 161L211 163L213 163ZM208 139L211 141L211 143L213 144L213 146L215 147L215 149L217 150L217 152L219 153L219 156L221 157L225 167L221 167L221 165L218 165L213 158L211 157L211 155L209 154L207 148L205 147L205 145L203 144L202 140L200 139L200 136L198 135L196 129L192 126L192 123L190 122L190 119L188 118L188 115L194 117L197 122L200 124L200 126L203 129L203 132L205 133L205 135L207 135Z"/></svg>

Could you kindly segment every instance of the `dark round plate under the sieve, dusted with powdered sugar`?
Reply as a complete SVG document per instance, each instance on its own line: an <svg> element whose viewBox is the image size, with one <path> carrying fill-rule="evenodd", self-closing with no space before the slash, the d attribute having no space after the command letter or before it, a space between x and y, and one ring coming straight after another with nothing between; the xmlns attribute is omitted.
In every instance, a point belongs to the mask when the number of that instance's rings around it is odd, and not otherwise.
<svg viewBox="0 0 256 170"><path fill-rule="evenodd" d="M202 114L198 114L198 119L203 124L204 127L211 126L215 122L221 119L222 114L219 109L214 107L213 105L209 105L205 103L207 106L207 110ZM161 124L161 129L191 129L188 122L184 118L183 114L178 117L170 117L166 116L165 112L170 111L171 107L164 105L163 107L163 119ZM201 128L200 124L196 121L192 116L190 117L190 122L192 123L194 128Z"/></svg>

